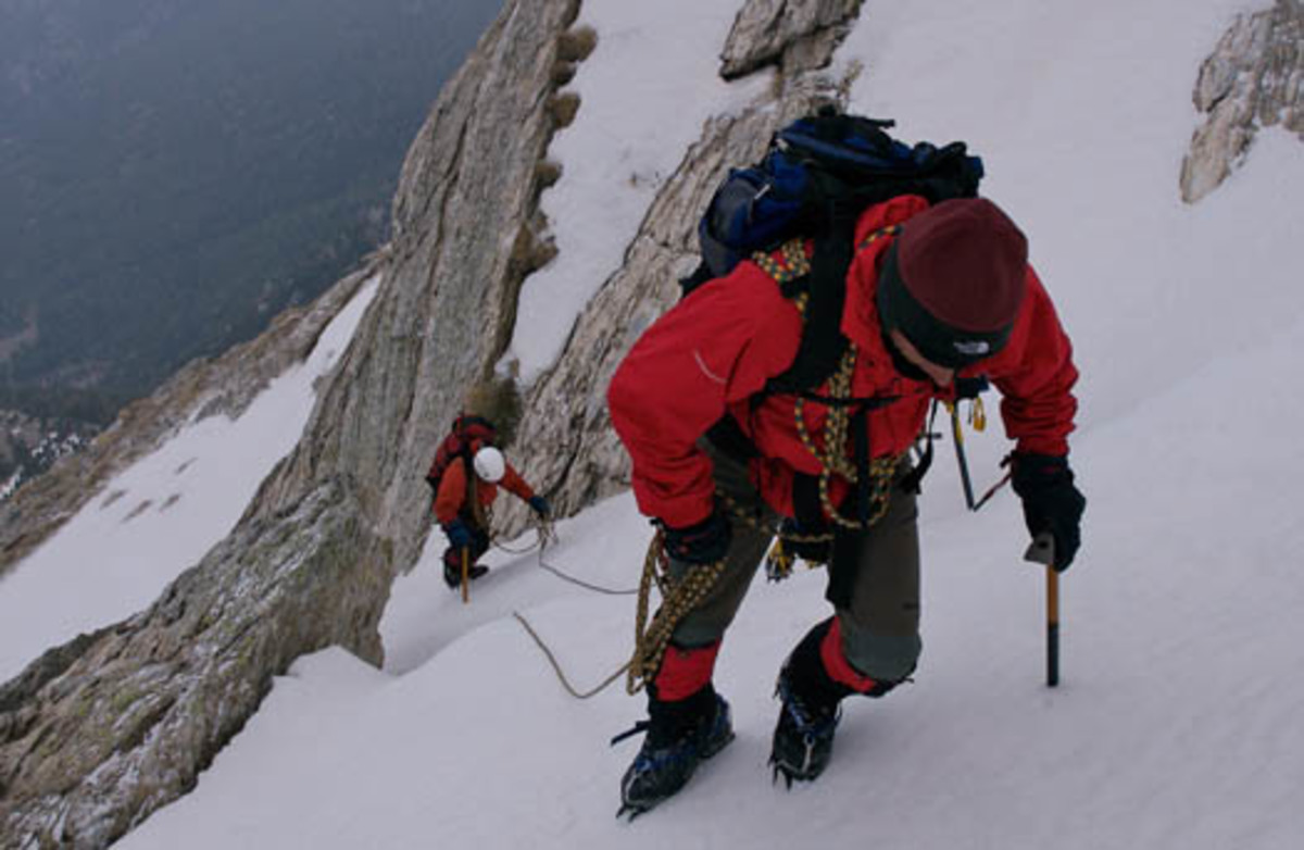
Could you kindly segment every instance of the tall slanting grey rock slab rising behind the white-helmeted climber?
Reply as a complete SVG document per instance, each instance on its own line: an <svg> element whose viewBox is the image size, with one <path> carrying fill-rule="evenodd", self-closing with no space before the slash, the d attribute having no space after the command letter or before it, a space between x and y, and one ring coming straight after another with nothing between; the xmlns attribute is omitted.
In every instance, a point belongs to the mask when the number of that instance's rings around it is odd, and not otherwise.
<svg viewBox="0 0 1304 850"><path fill-rule="evenodd" d="M430 528L430 454L506 348L540 223L537 166L570 0L509 3L413 142L385 283L304 439L254 512L344 469L404 568Z"/></svg>

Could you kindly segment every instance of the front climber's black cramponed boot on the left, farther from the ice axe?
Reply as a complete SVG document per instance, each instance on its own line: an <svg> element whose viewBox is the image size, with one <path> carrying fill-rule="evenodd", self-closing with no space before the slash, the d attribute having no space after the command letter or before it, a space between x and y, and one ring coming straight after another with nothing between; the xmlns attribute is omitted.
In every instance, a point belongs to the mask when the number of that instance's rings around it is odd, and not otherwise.
<svg viewBox="0 0 1304 850"><path fill-rule="evenodd" d="M648 687L648 720L612 739L618 743L647 733L643 748L621 780L621 810L634 820L661 800L673 797L692 777L698 764L733 740L729 703L711 684L682 700L656 699Z"/></svg>

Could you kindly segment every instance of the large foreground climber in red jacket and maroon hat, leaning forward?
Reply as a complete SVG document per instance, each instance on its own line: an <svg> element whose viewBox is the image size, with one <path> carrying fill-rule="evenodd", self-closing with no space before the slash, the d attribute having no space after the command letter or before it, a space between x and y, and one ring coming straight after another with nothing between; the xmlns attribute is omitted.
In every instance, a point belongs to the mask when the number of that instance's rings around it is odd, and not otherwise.
<svg viewBox="0 0 1304 850"><path fill-rule="evenodd" d="M777 283L805 271L810 240L691 292L612 379L612 421L670 574L722 564L644 678L648 735L622 782L635 812L678 791L733 737L712 671L777 527L785 548L828 563L832 615L780 671L776 777L816 778L841 700L882 696L915 669L918 473L908 450L935 399L953 402L977 378L1000 391L1028 529L1054 537L1056 570L1078 549L1085 499L1067 443L1077 369L1024 233L987 199L902 196L863 211L854 244L840 323L850 353L818 390L767 387L802 344L802 313Z"/></svg>

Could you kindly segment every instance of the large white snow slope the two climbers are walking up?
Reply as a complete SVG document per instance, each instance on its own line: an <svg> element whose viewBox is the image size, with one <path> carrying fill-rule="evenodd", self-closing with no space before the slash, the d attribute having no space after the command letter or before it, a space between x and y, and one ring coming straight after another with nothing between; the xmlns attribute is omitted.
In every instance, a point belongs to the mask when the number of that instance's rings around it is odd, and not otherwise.
<svg viewBox="0 0 1304 850"><path fill-rule="evenodd" d="M696 5L726 20L737 3ZM674 56L700 25L617 9L630 5L587 0L583 17L600 37L629 22L621 35L640 53ZM626 824L613 815L638 743L606 740L642 716L642 697L617 684L572 699L511 613L585 688L625 661L632 598L563 583L537 553L496 553L463 606L438 578L432 540L395 584L386 670L340 651L301 660L196 791L121 846L1301 846L1304 445L1292 426L1304 400L1292 375L1304 362L1304 146L1265 133L1227 185L1194 209L1178 201L1197 120L1191 87L1237 10L1230 0L868 0L840 52L866 65L858 108L896 117L905 137L964 137L983 154L987 193L1028 229L1074 338L1073 458L1090 505L1061 583L1058 690L1042 684L1043 579L1018 561L1017 502L1007 491L966 514L943 446L922 506L917 681L846 705L814 785L772 785L765 759L773 677L825 615L823 574L756 583L717 667L738 739L683 794ZM630 78L623 56L595 52L576 85ZM696 60L683 73L703 73ZM630 126L592 120L582 110L571 132ZM675 132L691 137L695 124ZM569 150L556 192L575 159L622 150ZM994 477L999 428L969 446L979 481ZM559 533L546 563L635 585L648 528L630 497Z"/></svg>

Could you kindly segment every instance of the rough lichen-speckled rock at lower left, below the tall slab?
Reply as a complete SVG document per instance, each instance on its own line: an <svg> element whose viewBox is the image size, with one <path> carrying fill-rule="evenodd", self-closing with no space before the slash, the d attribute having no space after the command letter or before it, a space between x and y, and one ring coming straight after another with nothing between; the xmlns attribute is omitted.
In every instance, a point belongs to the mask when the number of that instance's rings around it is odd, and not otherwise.
<svg viewBox="0 0 1304 850"><path fill-rule="evenodd" d="M271 671L334 644L378 662L391 553L363 516L347 481L323 482L0 688L5 846L106 846L193 787Z"/></svg>

